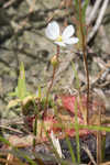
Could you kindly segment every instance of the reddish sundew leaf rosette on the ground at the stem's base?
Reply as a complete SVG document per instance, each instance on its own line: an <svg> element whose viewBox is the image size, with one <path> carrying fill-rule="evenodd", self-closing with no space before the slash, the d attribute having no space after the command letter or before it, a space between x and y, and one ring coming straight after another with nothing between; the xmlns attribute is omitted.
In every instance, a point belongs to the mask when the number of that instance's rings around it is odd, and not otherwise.
<svg viewBox="0 0 110 165"><path fill-rule="evenodd" d="M68 136L75 136L76 134L76 120L75 120L75 110L77 109L77 123L85 125L85 117L86 117L86 106L87 106L87 97L84 95L81 97L76 96L59 96L58 99L62 101L62 106L58 105L56 99L56 106L57 106L57 113L53 113L54 107L48 108L47 114L45 118L40 119L37 118L37 134L36 139L37 141L48 141L47 134L50 135L53 131L54 134L58 139L64 139L66 135ZM77 106L76 106L77 105ZM99 120L95 116L97 110L102 107L102 103L99 101L97 102L96 99L90 100L89 102L89 114L90 114L90 121L94 119L94 123L90 122L90 124L97 124L97 121ZM62 107L62 108L61 108ZM65 113L65 111L67 113ZM51 112L51 113L50 113ZM29 127L33 125L35 117L25 117L26 122L29 123ZM92 133L92 131L89 131L87 129L79 129L79 136L87 135Z"/></svg>

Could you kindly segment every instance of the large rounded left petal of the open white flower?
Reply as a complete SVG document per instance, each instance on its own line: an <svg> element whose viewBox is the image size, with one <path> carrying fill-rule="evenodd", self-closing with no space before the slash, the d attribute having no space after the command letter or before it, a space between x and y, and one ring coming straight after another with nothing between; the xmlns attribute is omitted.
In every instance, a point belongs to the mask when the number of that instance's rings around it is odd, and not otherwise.
<svg viewBox="0 0 110 165"><path fill-rule="evenodd" d="M59 35L59 25L56 21L48 23L45 34L51 40L56 40Z"/></svg>

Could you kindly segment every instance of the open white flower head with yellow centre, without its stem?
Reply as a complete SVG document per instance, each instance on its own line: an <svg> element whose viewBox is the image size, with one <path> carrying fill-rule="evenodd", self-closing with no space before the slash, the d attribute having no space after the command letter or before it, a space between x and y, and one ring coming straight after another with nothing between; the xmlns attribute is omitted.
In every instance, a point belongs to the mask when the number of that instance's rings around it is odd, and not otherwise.
<svg viewBox="0 0 110 165"><path fill-rule="evenodd" d="M73 25L65 28L63 34L61 35L59 25L56 21L48 23L45 34L50 40L53 40L55 44L59 46L66 46L70 44L78 43L78 37L74 37L75 29Z"/></svg>

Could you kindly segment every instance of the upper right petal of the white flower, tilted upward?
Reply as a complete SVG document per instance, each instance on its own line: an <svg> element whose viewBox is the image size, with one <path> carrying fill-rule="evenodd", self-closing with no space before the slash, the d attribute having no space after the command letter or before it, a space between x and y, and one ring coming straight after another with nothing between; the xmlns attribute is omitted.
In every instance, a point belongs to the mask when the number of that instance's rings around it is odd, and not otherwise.
<svg viewBox="0 0 110 165"><path fill-rule="evenodd" d="M68 25L63 32L63 38L68 38L75 33L75 29L73 25Z"/></svg>

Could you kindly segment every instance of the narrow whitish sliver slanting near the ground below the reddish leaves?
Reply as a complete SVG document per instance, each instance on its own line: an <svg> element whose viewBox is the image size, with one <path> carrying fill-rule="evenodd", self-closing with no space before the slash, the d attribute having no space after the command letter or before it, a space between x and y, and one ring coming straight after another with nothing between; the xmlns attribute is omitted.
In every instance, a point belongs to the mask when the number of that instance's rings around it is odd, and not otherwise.
<svg viewBox="0 0 110 165"><path fill-rule="evenodd" d="M52 142L53 142L53 145L54 145L55 150L57 151L59 157L62 158L63 153L62 153L61 144L59 144L58 139L55 138L55 134L54 134L53 131L51 132L51 139L52 139Z"/></svg>

